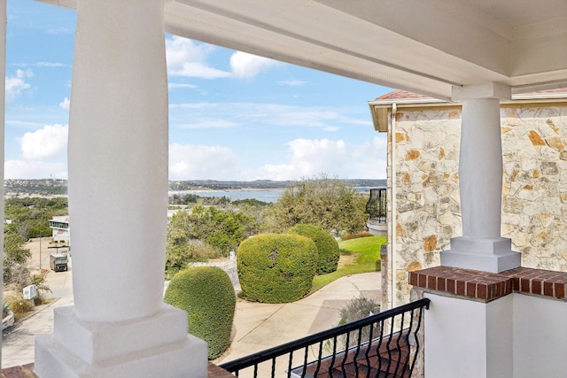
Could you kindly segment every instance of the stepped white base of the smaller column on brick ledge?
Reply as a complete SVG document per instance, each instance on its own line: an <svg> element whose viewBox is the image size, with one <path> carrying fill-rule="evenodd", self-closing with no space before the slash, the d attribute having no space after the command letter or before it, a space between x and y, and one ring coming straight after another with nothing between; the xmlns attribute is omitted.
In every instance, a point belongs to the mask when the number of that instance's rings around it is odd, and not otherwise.
<svg viewBox="0 0 567 378"><path fill-rule="evenodd" d="M512 251L509 238L473 239L454 237L451 249L442 251L441 265L462 267L483 272L501 273L521 266L522 256Z"/></svg>

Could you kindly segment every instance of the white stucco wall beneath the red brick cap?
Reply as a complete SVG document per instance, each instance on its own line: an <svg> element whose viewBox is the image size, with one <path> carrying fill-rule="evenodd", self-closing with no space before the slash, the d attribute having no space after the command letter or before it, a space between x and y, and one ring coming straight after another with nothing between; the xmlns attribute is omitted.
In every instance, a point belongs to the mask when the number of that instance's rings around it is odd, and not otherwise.
<svg viewBox="0 0 567 378"><path fill-rule="evenodd" d="M564 377L567 303L513 293L489 303L425 293L424 376Z"/></svg>

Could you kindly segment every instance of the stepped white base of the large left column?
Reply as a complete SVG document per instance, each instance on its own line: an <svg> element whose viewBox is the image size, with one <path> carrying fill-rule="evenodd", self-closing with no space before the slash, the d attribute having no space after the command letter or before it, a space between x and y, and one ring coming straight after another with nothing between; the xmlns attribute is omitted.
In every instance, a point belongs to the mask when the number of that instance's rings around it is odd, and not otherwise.
<svg viewBox="0 0 567 378"><path fill-rule="evenodd" d="M53 333L35 341L41 378L207 375L207 346L187 334L187 313L164 305L157 314L120 322L87 322L74 307L55 309Z"/></svg>

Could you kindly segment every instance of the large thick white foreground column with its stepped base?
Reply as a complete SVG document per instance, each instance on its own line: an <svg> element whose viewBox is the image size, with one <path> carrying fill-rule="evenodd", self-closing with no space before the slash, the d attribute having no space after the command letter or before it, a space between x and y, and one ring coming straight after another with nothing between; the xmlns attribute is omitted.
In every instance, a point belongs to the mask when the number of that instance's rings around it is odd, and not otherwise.
<svg viewBox="0 0 567 378"><path fill-rule="evenodd" d="M163 304L164 0L79 0L69 120L74 306L40 337L40 377L206 376L206 344Z"/></svg>

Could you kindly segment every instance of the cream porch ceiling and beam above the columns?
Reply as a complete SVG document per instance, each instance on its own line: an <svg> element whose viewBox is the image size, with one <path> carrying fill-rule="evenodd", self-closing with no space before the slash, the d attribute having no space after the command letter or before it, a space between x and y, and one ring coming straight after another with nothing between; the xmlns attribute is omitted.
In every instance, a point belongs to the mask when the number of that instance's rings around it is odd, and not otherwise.
<svg viewBox="0 0 567 378"><path fill-rule="evenodd" d="M174 35L441 99L567 86L564 0L166 0L165 18Z"/></svg>

